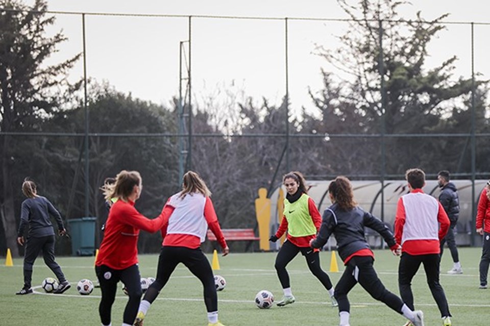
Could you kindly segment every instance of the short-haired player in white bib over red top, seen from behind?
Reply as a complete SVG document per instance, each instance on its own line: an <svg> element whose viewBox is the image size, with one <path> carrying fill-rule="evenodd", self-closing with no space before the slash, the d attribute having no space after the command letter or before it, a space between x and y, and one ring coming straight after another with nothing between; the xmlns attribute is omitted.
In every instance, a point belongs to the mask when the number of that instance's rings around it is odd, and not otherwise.
<svg viewBox="0 0 490 326"><path fill-rule="evenodd" d="M402 245L398 266L400 295L413 310L411 282L424 264L427 284L443 318L443 325L451 325L451 314L439 283L440 240L449 230L450 221L443 206L434 197L425 194L425 173L409 169L405 174L410 193L400 197L395 218L395 239Z"/></svg>

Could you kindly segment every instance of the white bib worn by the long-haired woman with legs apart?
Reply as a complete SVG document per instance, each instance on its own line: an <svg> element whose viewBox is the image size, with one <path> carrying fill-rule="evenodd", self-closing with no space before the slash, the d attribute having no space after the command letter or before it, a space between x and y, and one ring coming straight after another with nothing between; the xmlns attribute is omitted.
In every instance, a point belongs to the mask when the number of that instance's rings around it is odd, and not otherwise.
<svg viewBox="0 0 490 326"><path fill-rule="evenodd" d="M204 217L206 197L200 193L188 193L181 198L180 194L171 196L167 202L167 205L175 208L168 219L167 234L190 234L204 242L208 230Z"/></svg>

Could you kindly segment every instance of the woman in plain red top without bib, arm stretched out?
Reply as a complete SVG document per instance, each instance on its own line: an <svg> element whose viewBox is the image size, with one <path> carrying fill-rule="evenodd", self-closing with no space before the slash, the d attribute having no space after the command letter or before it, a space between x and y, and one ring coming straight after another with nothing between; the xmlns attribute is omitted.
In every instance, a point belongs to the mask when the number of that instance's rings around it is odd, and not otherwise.
<svg viewBox="0 0 490 326"><path fill-rule="evenodd" d="M110 208L104 239L95 262L95 273L102 291L99 314L105 326L111 325L111 309L119 281L125 284L129 295L122 325L133 324L142 295L137 256L139 230L160 230L164 223L164 215L168 214L164 208L155 219L141 215L134 208L141 189L139 172L126 170L117 174L115 183L105 183L102 187L106 200L117 198Z"/></svg>

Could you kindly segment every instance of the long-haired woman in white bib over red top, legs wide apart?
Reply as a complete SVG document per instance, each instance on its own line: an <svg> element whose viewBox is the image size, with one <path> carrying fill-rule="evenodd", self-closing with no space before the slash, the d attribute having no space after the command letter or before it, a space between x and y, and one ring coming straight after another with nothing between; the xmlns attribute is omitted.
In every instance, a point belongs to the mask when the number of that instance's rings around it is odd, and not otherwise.
<svg viewBox="0 0 490 326"><path fill-rule="evenodd" d="M164 209L168 209L171 214L165 216L157 277L139 305L135 322L138 326L143 324L150 305L179 263L183 263L203 284L208 326L224 326L218 321L218 298L213 271L200 247L206 240L208 227L222 246L223 256L228 255L230 249L219 227L206 183L193 171L185 173L183 179L182 191L168 198L165 204Z"/></svg>

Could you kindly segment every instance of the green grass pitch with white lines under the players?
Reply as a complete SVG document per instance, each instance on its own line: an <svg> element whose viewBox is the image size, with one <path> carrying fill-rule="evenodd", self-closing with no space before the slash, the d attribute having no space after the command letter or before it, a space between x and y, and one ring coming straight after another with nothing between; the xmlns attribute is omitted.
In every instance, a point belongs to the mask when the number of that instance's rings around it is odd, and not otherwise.
<svg viewBox="0 0 490 326"><path fill-rule="evenodd" d="M478 264L481 248L459 248L464 274L448 275L452 267L449 250L446 250L441 270L441 283L446 291L453 325L478 326L490 324L490 290L479 290ZM376 250L375 268L388 290L398 294L398 258L389 250ZM258 309L253 300L259 290L269 290L276 300L282 289L274 270L275 253L234 254L219 256L222 275L227 285L218 292L219 319L227 326L245 325L338 325L338 311L330 306L327 291L309 272L304 258L298 255L289 265L291 288L296 303L283 308ZM211 256L208 256L211 261ZM329 272L330 252L321 253L321 263L335 284L343 266L338 259L340 272ZM0 265L0 324L2 325L100 325L98 307L100 289L82 296L76 290L81 279L96 281L93 257L59 257L72 288L65 294L15 295L22 287L22 260L14 259L14 266ZM157 255L140 255L142 277L155 277ZM39 257L34 265L33 285L39 286L53 273ZM121 288L122 286L120 286ZM412 283L415 308L425 314L426 326L441 325L439 312L425 281L423 268ZM206 309L199 280L179 265L152 305L145 326L153 325L206 325ZM403 325L405 319L369 296L359 285L349 294L351 325ZM119 289L112 309L112 324L122 323L122 311L127 297Z"/></svg>

